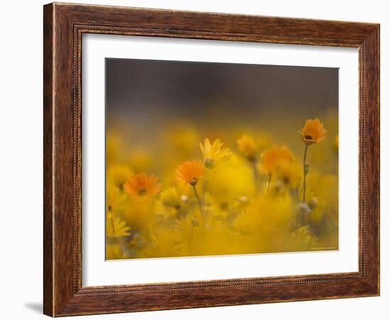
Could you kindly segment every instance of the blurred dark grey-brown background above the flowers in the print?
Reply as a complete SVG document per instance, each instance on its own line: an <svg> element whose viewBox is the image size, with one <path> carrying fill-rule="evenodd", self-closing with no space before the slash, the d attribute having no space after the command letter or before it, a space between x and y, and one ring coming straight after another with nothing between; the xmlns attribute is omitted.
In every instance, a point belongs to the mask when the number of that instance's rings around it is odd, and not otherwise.
<svg viewBox="0 0 390 320"><path fill-rule="evenodd" d="M169 118L269 130L271 119L294 118L283 130L296 132L337 108L337 68L106 59L108 127L121 119L150 132Z"/></svg>

